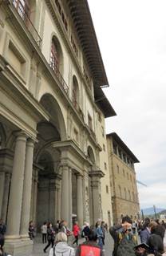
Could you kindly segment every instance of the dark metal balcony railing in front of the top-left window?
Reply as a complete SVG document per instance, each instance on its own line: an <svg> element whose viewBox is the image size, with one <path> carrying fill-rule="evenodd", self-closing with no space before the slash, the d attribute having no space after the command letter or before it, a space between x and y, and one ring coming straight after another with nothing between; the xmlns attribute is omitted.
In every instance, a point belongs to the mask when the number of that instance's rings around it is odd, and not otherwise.
<svg viewBox="0 0 166 256"><path fill-rule="evenodd" d="M30 20L30 6L27 5L26 0L12 0L12 3L25 23L26 28L30 31L30 34L33 35L38 46L41 47L41 37L38 35L38 31Z"/></svg>

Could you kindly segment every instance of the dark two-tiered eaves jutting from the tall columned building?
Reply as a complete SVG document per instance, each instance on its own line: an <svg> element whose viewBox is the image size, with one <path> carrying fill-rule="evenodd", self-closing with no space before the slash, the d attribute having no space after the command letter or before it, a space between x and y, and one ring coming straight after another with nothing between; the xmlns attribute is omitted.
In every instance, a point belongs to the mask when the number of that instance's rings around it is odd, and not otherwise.
<svg viewBox="0 0 166 256"><path fill-rule="evenodd" d="M109 87L87 0L67 0L77 36L93 76L94 98L105 117L116 116L101 87Z"/></svg>

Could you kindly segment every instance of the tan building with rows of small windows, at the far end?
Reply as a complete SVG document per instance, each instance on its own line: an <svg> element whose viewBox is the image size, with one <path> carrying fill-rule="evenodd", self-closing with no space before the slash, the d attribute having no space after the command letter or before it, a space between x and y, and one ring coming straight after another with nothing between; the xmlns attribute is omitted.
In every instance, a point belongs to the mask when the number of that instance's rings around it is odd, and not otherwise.
<svg viewBox="0 0 166 256"><path fill-rule="evenodd" d="M140 205L134 164L139 161L115 132L107 135L107 147L113 222L121 221L125 215L135 220L139 217Z"/></svg>

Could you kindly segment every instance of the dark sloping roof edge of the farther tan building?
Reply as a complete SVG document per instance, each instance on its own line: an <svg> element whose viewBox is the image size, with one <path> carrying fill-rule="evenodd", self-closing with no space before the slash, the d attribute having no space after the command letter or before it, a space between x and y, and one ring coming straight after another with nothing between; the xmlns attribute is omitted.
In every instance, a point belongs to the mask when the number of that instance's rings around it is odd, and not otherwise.
<svg viewBox="0 0 166 256"><path fill-rule="evenodd" d="M111 136L113 140L115 140L117 144L124 149L124 151L128 154L128 156L132 158L132 161L134 161L134 163L140 163L140 161L136 158L136 156L132 153L132 151L128 148L128 146L124 144L123 140L121 140L120 136L118 136L116 132L107 134L107 137L109 136Z"/></svg>

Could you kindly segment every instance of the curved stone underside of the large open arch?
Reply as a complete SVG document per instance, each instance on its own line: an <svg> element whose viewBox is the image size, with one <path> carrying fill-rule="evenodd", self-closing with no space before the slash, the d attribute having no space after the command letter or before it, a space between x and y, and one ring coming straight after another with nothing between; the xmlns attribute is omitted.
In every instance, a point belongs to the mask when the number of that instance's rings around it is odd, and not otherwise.
<svg viewBox="0 0 166 256"><path fill-rule="evenodd" d="M53 95L45 93L41 96L40 104L49 112L50 122L57 128L61 140L66 140L65 120L61 108Z"/></svg>

